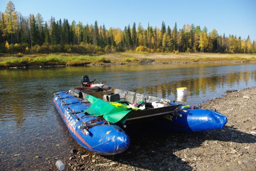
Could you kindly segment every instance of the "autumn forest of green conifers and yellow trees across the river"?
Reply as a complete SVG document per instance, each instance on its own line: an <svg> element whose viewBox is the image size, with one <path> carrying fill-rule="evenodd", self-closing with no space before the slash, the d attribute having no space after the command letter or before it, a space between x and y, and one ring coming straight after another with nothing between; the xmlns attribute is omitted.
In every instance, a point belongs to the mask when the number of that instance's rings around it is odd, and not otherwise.
<svg viewBox="0 0 256 171"><path fill-rule="evenodd" d="M178 29L162 21L161 28L141 23L128 24L124 29L106 28L94 24L71 23L68 19L51 17L44 20L40 13L23 16L15 11L12 1L0 12L0 53L76 52L105 54L123 51L136 52L213 52L256 53L256 43L250 37L219 35L194 24Z"/></svg>

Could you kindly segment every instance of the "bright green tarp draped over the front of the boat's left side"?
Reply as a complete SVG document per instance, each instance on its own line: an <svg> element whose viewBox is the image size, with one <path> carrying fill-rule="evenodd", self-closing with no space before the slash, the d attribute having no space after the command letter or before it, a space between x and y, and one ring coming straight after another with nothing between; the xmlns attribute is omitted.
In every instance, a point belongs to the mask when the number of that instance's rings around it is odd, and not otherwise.
<svg viewBox="0 0 256 171"><path fill-rule="evenodd" d="M116 107L91 95L86 96L86 98L92 105L85 109L84 112L92 116L103 115L103 118L111 123L120 121L124 124L128 118L128 113L132 111L132 108Z"/></svg>

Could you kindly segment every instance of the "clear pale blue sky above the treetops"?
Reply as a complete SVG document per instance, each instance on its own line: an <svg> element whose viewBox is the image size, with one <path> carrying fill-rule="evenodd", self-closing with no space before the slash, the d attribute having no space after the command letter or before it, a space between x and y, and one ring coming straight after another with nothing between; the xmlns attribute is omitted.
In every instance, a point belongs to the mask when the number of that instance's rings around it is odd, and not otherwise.
<svg viewBox="0 0 256 171"><path fill-rule="evenodd" d="M9 0L0 1L0 11L4 12ZM215 0L215 1L87 1L87 0L13 0L16 11L23 16L38 12L48 20L51 16L56 19L67 18L99 25L103 23L107 28L125 25L136 26L141 22L145 28L148 22L153 27L161 27L164 20L166 25L173 28L175 21L178 28L183 24L206 26L209 31L215 28L219 34L241 35L256 40L256 0Z"/></svg>

